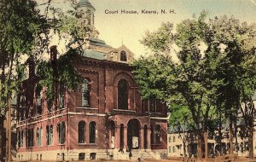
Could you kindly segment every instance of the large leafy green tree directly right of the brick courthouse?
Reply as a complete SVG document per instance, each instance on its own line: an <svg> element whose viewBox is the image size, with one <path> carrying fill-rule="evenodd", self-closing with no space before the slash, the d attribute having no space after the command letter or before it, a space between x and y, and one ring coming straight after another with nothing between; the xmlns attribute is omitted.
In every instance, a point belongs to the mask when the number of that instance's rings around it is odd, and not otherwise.
<svg viewBox="0 0 256 162"><path fill-rule="evenodd" d="M214 113L218 84L222 83L215 72L212 52L201 49L201 44L211 43L205 18L206 14L202 13L197 20L183 20L177 25L176 34L172 34L172 27L168 27L170 23L163 24L158 32L147 33L142 43L156 53L133 64L143 97L156 95L160 100L181 102L189 108L198 136L199 158L202 157L203 132L207 132L207 122ZM172 43L181 48L177 53L177 63L168 55Z"/></svg>

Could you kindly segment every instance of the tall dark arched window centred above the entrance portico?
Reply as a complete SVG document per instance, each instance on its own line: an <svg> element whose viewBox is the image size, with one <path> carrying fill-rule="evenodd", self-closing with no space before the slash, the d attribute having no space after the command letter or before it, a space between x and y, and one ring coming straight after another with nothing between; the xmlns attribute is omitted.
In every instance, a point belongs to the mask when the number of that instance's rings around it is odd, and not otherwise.
<svg viewBox="0 0 256 162"><path fill-rule="evenodd" d="M128 110L128 83L121 79L118 85L118 109Z"/></svg>

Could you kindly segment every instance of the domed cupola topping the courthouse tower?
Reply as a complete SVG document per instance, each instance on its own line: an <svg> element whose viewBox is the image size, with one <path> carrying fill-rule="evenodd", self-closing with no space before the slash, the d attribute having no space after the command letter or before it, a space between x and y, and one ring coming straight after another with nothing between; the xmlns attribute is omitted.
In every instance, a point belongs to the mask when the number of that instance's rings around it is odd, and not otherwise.
<svg viewBox="0 0 256 162"><path fill-rule="evenodd" d="M96 9L91 5L89 0L80 0L76 6L77 17L84 20L85 26L94 25L94 12Z"/></svg>

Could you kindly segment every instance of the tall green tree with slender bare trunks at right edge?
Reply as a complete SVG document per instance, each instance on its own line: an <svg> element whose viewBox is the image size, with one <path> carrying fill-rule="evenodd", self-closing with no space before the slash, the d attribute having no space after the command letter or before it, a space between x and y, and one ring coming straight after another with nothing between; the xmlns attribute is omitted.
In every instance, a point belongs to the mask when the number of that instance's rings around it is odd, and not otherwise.
<svg viewBox="0 0 256 162"><path fill-rule="evenodd" d="M241 110L249 130L249 157L253 158L253 118L252 96L256 84L256 27L255 24L240 23L226 16L210 20L213 40L222 46L222 64L219 64L219 78L224 79L222 96L227 117L230 118L230 153L233 153L232 123ZM221 47L220 47L221 48Z"/></svg>

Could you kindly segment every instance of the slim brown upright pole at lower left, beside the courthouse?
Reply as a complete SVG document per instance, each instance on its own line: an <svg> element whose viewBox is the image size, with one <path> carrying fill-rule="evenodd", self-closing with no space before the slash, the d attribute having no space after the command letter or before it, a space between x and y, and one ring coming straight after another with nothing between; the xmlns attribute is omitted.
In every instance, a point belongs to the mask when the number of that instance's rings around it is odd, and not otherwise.
<svg viewBox="0 0 256 162"><path fill-rule="evenodd" d="M11 136L12 136L12 130L11 130L11 97L8 99L8 113L7 113L7 127L6 127L6 136L7 136L7 143L6 143L6 162L11 161L11 148L12 148L12 142L11 142Z"/></svg>

